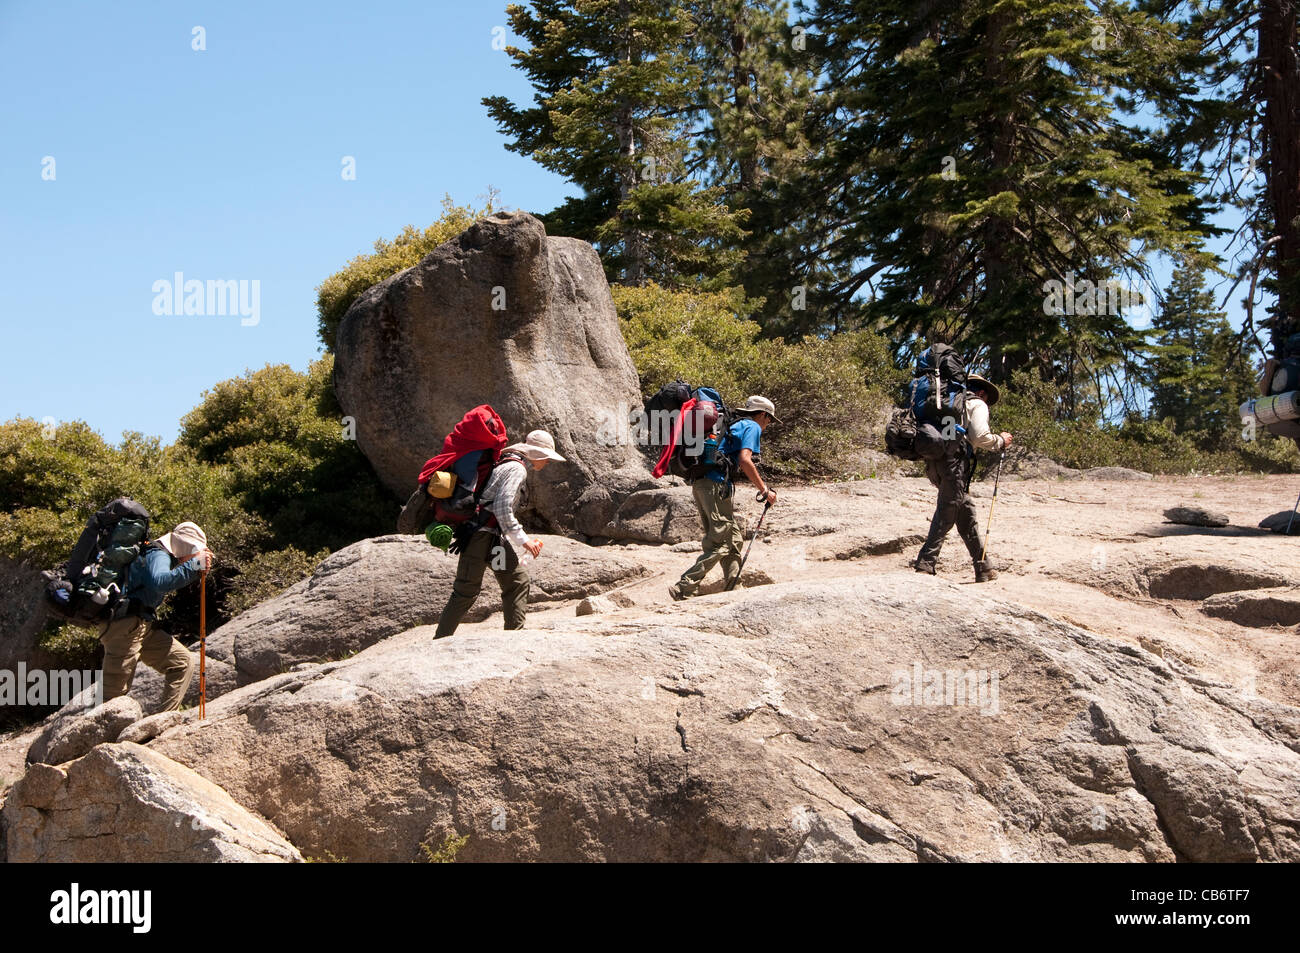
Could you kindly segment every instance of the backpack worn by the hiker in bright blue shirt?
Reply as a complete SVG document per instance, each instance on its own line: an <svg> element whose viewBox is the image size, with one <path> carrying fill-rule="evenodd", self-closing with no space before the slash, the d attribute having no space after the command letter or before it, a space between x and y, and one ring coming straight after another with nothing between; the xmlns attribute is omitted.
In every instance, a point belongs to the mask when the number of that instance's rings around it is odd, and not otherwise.
<svg viewBox="0 0 1300 953"><path fill-rule="evenodd" d="M692 390L685 381L673 381L646 400L645 408L651 424L651 446L662 450L654 468L656 477L671 475L692 481L715 469L729 476L727 450L736 415L714 387ZM655 426L655 411L667 412L672 420L671 432L662 443L656 439L663 430Z"/></svg>

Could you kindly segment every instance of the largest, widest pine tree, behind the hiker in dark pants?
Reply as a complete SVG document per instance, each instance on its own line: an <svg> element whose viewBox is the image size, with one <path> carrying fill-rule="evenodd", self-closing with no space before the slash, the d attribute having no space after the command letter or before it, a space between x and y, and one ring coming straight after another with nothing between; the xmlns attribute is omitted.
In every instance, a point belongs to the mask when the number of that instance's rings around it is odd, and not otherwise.
<svg viewBox="0 0 1300 953"><path fill-rule="evenodd" d="M1117 109L1174 56L1173 27L1117 3L820 0L811 30L828 103L810 200L836 212L810 237L838 276L826 311L987 345L997 380L1130 364L1123 313L1057 311L1048 282L1143 276L1150 251L1195 238L1195 176Z"/></svg>

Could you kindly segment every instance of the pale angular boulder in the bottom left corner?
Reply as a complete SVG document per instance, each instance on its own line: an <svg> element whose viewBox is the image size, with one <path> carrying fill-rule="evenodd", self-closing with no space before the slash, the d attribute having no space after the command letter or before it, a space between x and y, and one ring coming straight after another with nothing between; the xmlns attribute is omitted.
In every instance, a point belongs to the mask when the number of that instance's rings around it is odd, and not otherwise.
<svg viewBox="0 0 1300 953"><path fill-rule="evenodd" d="M133 744L100 745L66 767L34 764L4 819L12 863L302 861L221 788Z"/></svg>

